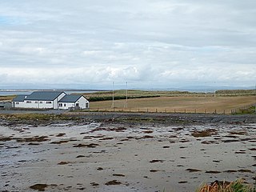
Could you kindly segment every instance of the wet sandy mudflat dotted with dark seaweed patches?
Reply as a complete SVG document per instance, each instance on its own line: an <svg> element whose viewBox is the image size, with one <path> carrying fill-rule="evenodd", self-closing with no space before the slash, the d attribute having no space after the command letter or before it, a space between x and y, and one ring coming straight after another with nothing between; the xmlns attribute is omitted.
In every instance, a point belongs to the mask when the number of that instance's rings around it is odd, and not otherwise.
<svg viewBox="0 0 256 192"><path fill-rule="evenodd" d="M2 191L194 191L256 170L256 123L0 126ZM0 190L0 191L1 191Z"/></svg>

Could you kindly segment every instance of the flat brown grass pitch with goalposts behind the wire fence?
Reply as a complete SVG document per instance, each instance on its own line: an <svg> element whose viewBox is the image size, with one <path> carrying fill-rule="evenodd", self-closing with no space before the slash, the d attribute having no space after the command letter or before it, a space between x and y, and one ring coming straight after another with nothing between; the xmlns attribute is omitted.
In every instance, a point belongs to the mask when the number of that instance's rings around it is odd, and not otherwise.
<svg viewBox="0 0 256 192"><path fill-rule="evenodd" d="M230 114L244 106L256 103L255 96L237 97L159 97L159 98L134 98L115 101L115 109L111 108L112 101L90 102L90 110L107 111L139 111L139 112L179 112L179 113L216 113Z"/></svg>

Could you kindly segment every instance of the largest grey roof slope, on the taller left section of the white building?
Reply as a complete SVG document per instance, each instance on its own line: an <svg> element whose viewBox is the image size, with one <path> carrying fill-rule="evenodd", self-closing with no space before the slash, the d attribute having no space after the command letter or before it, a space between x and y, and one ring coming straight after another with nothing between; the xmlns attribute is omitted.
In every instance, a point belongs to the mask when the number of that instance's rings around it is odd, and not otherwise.
<svg viewBox="0 0 256 192"><path fill-rule="evenodd" d="M28 95L25 100L36 100L36 101L54 101L58 98L63 91L34 91ZM65 94L65 93L64 93Z"/></svg>

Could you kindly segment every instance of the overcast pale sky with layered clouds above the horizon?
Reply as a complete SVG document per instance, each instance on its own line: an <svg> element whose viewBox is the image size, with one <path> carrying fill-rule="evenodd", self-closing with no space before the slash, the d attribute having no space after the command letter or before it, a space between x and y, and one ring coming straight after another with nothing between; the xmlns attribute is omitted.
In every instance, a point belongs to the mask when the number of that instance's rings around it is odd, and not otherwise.
<svg viewBox="0 0 256 192"><path fill-rule="evenodd" d="M254 86L255 0L1 0L0 89Z"/></svg>

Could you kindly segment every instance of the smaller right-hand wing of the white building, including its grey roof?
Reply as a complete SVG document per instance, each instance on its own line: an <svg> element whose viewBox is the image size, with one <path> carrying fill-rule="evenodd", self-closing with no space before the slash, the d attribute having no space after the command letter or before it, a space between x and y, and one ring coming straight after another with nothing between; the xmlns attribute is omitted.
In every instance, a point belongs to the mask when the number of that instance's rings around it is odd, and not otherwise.
<svg viewBox="0 0 256 192"><path fill-rule="evenodd" d="M79 107L81 109L88 109L89 102L88 100L82 95L65 95L59 102L58 102L58 109L69 109L70 107Z"/></svg>

